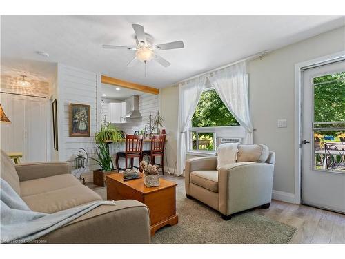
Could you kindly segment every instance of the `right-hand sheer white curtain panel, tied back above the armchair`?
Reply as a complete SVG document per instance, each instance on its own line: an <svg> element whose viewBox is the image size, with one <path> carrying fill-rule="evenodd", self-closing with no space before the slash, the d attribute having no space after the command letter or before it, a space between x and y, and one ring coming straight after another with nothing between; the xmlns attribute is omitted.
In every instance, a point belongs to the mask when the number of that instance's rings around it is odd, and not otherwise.
<svg viewBox="0 0 345 259"><path fill-rule="evenodd" d="M253 125L250 119L248 102L248 81L246 62L241 62L208 75L230 113L246 130L245 144L253 144Z"/></svg>

